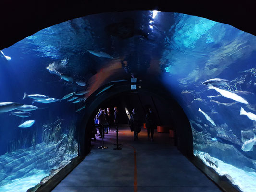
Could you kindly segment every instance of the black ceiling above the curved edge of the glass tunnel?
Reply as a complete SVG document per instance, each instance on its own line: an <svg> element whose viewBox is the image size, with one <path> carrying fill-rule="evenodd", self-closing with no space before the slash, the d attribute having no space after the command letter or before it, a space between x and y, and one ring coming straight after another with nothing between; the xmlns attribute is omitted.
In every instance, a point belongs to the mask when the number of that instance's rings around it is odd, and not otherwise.
<svg viewBox="0 0 256 192"><path fill-rule="evenodd" d="M254 1L173 1L95 0L95 1L15 1L1 2L0 50L37 31L73 18L114 11L158 10L196 15L230 24L256 35Z"/></svg>

